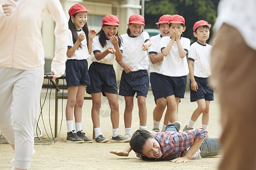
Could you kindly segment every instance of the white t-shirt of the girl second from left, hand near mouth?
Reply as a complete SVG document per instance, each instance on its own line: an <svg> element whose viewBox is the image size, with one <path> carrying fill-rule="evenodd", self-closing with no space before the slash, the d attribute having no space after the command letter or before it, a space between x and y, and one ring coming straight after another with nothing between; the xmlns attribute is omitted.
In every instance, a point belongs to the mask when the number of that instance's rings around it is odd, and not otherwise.
<svg viewBox="0 0 256 170"><path fill-rule="evenodd" d="M112 42L110 40L106 40L106 45L104 47L102 47L101 44L100 44L99 38L100 38L99 35L97 35L97 36L95 36L93 38L93 47L92 47L93 53L96 53L96 52L102 53L106 49L108 49L109 47L113 47L114 48L114 45L112 44ZM122 45L121 45L121 47L119 49L122 52ZM105 63L107 65L113 65L114 61L115 61L115 54L109 53L108 55L106 55L104 58L102 58L99 61L93 55L92 61L93 62L99 62L99 63Z"/></svg>

